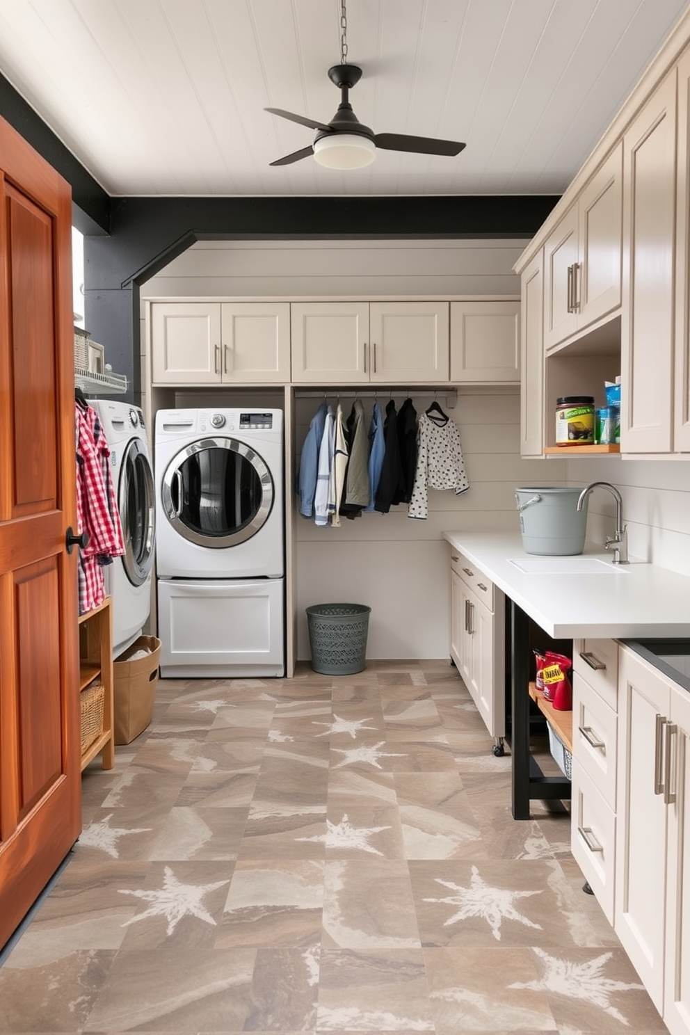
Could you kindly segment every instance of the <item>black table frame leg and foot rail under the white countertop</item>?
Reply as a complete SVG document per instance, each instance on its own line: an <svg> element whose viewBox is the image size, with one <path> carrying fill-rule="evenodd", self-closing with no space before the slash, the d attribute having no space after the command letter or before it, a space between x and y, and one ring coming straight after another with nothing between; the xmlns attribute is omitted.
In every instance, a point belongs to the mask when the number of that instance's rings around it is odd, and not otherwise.
<svg viewBox="0 0 690 1035"><path fill-rule="evenodd" d="M511 779L514 820L530 819L530 802L570 798L570 780L565 776L544 776L530 752L530 620L514 600L510 601L511 623Z"/></svg>

